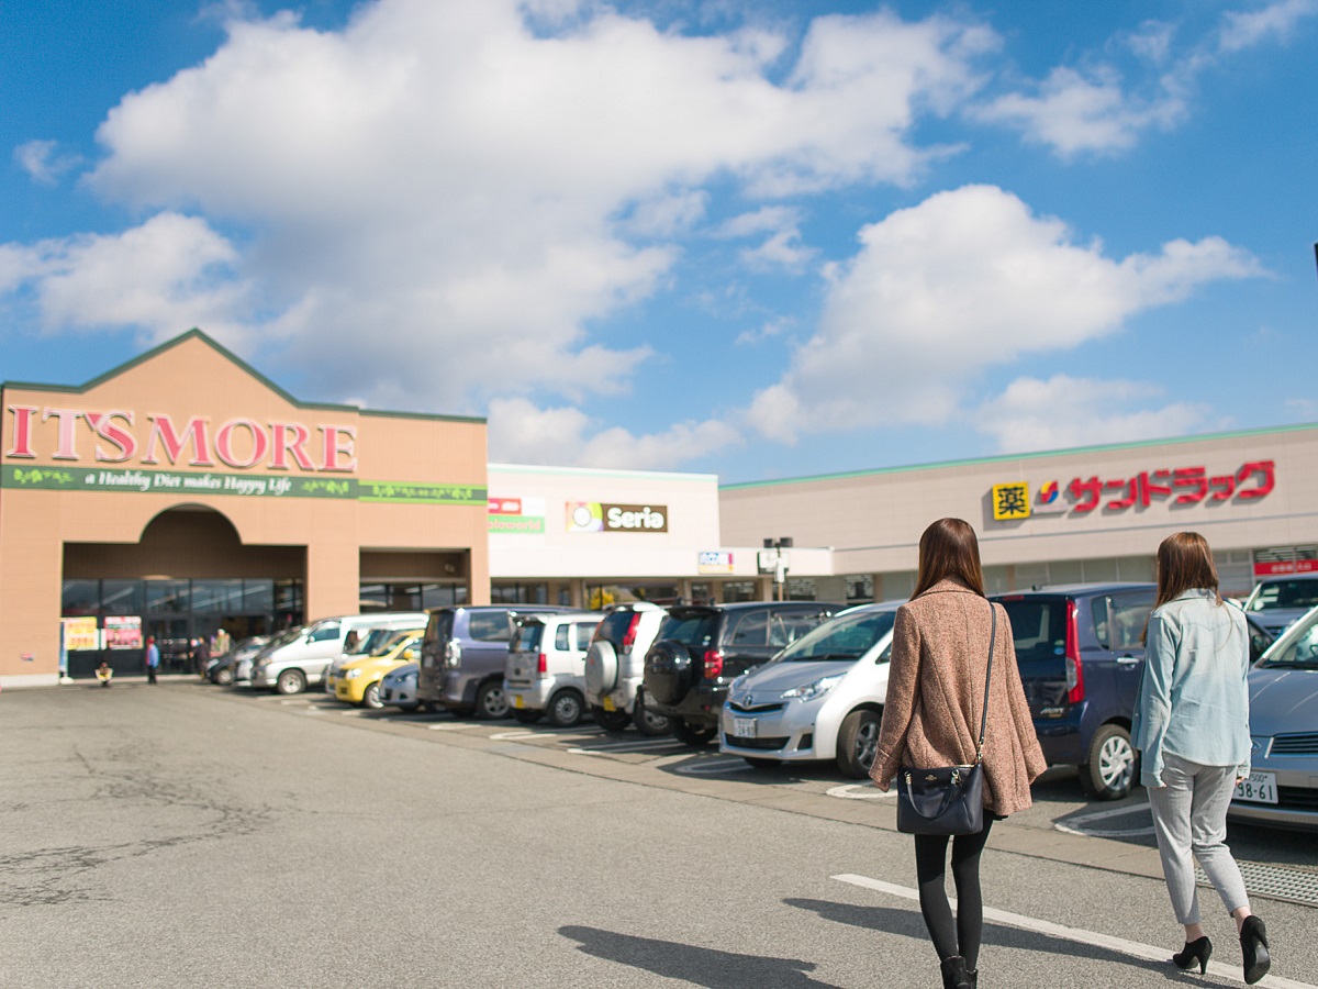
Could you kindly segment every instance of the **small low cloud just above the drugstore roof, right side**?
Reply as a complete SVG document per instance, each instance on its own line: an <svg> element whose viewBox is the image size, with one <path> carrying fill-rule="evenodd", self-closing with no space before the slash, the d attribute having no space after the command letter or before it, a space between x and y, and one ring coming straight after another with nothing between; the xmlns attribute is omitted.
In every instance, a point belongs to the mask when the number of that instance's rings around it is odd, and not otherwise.
<svg viewBox="0 0 1318 989"><path fill-rule="evenodd" d="M1205 429L1209 406L1155 406L1162 394L1157 385L1141 381L1021 377L983 402L971 422L994 436L1003 452L1164 439Z"/></svg>

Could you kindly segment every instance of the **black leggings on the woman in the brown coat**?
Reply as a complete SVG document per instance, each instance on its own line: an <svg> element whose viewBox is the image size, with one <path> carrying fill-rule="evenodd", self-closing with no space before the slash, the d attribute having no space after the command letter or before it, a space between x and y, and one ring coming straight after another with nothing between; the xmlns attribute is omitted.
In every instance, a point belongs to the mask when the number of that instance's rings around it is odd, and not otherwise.
<svg viewBox="0 0 1318 989"><path fill-rule="evenodd" d="M979 853L988 840L992 820L985 815L983 831L975 835L957 835L952 840L952 881L957 886L957 919L952 919L946 881L948 836L915 836L915 873L920 882L920 913L929 928L933 949L938 960L960 955L966 968L979 960L979 939L983 935L985 903L979 895ZM960 951L958 951L960 945Z"/></svg>

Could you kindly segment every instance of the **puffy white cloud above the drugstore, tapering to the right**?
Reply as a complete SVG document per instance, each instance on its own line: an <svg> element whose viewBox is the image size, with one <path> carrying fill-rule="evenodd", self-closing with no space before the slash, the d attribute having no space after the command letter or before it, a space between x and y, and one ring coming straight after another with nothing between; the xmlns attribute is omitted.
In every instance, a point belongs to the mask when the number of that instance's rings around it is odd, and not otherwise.
<svg viewBox="0 0 1318 989"><path fill-rule="evenodd" d="M994 186L940 193L859 240L830 270L815 335L749 409L767 436L948 422L986 368L1074 348L1199 285L1263 273L1217 237L1112 260Z"/></svg>

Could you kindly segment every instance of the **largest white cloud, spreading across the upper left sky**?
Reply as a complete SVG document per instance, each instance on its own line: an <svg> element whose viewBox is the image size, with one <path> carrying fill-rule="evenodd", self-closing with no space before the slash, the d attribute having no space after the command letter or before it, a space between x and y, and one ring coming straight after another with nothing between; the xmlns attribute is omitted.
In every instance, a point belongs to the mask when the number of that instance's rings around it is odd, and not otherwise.
<svg viewBox="0 0 1318 989"><path fill-rule="evenodd" d="M907 182L942 153L915 142L919 115L973 92L996 44L886 11L792 37L572 0L378 0L340 32L245 9L219 8L228 40L203 63L109 112L87 183L245 232L231 309L215 295L174 331L243 323L326 397L445 411L625 389L647 352L592 327L666 285L679 251L654 239L702 218L705 183ZM750 260L808 257L780 228Z"/></svg>

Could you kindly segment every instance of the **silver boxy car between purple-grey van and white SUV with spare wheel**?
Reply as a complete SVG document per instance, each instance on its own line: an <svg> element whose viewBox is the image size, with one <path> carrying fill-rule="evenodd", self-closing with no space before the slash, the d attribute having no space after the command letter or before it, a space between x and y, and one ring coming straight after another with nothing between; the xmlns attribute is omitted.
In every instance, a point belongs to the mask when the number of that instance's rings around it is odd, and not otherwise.
<svg viewBox="0 0 1318 989"><path fill-rule="evenodd" d="M523 724L558 728L585 716L585 653L604 612L518 614L503 667L503 694Z"/></svg>

